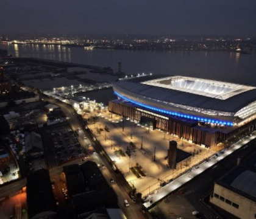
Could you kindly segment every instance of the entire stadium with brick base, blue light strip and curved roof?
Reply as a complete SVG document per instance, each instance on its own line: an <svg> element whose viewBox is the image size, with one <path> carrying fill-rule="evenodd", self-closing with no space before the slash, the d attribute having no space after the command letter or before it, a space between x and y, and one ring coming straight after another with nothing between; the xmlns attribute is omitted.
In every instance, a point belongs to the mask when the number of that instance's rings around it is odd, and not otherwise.
<svg viewBox="0 0 256 219"><path fill-rule="evenodd" d="M255 130L254 86L172 76L122 80L113 90L110 112L205 147Z"/></svg>

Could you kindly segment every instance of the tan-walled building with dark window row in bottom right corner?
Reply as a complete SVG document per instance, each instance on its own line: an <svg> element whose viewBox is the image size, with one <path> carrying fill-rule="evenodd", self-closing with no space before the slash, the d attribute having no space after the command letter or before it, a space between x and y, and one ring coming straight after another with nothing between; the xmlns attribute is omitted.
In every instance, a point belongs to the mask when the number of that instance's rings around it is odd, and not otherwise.
<svg viewBox="0 0 256 219"><path fill-rule="evenodd" d="M256 218L255 159L254 154L216 181L210 202L238 218Z"/></svg>

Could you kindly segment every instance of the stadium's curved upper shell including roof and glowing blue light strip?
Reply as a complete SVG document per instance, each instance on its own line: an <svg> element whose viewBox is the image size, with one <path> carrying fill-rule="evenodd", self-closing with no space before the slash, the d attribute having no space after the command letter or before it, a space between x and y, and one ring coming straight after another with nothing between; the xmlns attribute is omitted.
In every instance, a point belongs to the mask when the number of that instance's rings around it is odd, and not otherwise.
<svg viewBox="0 0 256 219"><path fill-rule="evenodd" d="M141 83L120 81L113 89L128 102L186 119L233 126L256 115L253 86L173 76Z"/></svg>

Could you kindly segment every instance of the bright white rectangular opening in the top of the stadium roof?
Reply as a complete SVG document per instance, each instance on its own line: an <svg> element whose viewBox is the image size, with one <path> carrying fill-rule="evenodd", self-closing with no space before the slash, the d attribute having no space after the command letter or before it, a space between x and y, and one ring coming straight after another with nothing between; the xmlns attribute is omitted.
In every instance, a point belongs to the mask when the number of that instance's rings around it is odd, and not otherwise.
<svg viewBox="0 0 256 219"><path fill-rule="evenodd" d="M233 83L205 80L201 78L173 76L149 80L145 85L158 86L160 88L174 89L177 91L198 94L205 97L226 100L242 92L255 89L252 86L236 85Z"/></svg>

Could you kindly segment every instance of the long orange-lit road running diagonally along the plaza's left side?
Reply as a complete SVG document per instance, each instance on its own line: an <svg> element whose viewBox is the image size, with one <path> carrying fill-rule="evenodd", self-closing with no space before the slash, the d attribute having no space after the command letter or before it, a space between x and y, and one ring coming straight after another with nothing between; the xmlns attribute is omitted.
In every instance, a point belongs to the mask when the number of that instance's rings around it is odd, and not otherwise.
<svg viewBox="0 0 256 219"><path fill-rule="evenodd" d="M54 105L58 105L60 106L60 108L62 109L62 111L66 114L66 117L68 117L68 123L70 125L70 127L73 129L73 131L76 131L78 128L81 128L81 130L79 130L79 137L77 137L77 139L80 142L80 145L83 148L86 148L86 146L88 144L91 144L91 142L87 139L84 139L84 130L83 127L81 127L81 124L79 122L79 120L77 119L77 114L76 111L74 110L74 108L66 103L60 102L59 100L55 100L51 97L46 97L46 96L42 96L44 100L48 101L49 103L52 103ZM94 158L94 161L98 161L98 164L104 164L106 168L102 168L102 173L105 176L105 178L107 179L108 183L110 183L110 179L113 178L114 179L114 183L112 183L112 187L115 190L116 194L118 195L118 204L119 207L123 210L123 212L126 214L126 217L129 219L141 219L143 218L143 215L141 215L141 207L140 204L134 204L132 202L132 200L130 200L129 195L127 194L128 191L126 191L126 189L124 188L124 183L120 181L120 178L118 175L116 175L116 173L113 172L112 167L110 166L110 164L108 163L108 161L105 160L104 156L101 155L101 153L99 153L99 148L96 147L96 145L94 145L94 149L96 150L96 152L98 152L98 155L92 155L92 157ZM77 161L75 161L77 162ZM72 162L70 162L69 164L71 164ZM50 175L53 176L57 176L58 174L60 174L62 172L62 167L56 167L54 169L50 170ZM124 206L124 200L128 200L130 206L126 207ZM148 217L151 217L151 215L148 215Z"/></svg>

